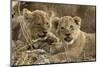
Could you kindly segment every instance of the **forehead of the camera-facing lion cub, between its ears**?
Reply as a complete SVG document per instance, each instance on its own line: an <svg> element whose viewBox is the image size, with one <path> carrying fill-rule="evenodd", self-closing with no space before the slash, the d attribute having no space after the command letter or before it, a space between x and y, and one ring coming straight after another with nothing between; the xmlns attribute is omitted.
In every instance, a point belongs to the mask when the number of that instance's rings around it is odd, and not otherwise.
<svg viewBox="0 0 100 67"><path fill-rule="evenodd" d="M73 24L74 20L71 16L64 16L61 18L61 24L64 26L68 26L70 24Z"/></svg>

